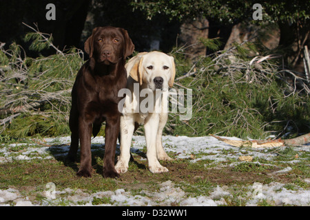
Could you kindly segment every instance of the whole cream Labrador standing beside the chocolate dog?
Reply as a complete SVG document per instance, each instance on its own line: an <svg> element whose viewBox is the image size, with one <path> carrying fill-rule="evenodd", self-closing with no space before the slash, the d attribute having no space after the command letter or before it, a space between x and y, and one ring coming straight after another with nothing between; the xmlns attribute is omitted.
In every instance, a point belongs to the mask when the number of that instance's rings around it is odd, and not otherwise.
<svg viewBox="0 0 310 220"><path fill-rule="evenodd" d="M168 169L158 162L158 159L171 159L165 153L162 143L163 128L168 117L163 107L167 104L167 100L158 97L152 99L152 95L155 97L156 92L167 91L173 86L176 75L174 58L162 52L143 52L131 58L125 68L130 96L127 94L125 98L121 116L121 155L115 169L118 173L127 171L135 124L144 123L149 170L152 173L167 172ZM149 101L147 111L141 109L145 99ZM158 106L160 111L155 111Z"/></svg>

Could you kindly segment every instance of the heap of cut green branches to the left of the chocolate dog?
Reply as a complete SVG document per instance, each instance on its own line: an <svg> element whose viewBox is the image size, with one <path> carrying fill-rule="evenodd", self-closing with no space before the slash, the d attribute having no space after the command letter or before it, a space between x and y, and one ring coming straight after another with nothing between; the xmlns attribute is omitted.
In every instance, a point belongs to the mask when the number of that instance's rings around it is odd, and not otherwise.
<svg viewBox="0 0 310 220"><path fill-rule="evenodd" d="M28 33L30 49L41 52L54 47L52 37ZM83 65L83 52L65 52L30 58L15 43L0 50L0 133L11 137L68 135L71 89ZM4 121L4 122L3 122Z"/></svg>

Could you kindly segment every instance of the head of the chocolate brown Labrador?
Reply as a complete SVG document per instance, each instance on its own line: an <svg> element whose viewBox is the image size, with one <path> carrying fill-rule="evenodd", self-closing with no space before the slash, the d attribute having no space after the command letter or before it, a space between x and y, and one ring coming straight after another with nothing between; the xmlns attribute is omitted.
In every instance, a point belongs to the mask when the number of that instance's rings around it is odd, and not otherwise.
<svg viewBox="0 0 310 220"><path fill-rule="evenodd" d="M107 26L94 28L85 41L84 49L96 63L110 65L130 56L134 52L134 44L126 30Z"/></svg>

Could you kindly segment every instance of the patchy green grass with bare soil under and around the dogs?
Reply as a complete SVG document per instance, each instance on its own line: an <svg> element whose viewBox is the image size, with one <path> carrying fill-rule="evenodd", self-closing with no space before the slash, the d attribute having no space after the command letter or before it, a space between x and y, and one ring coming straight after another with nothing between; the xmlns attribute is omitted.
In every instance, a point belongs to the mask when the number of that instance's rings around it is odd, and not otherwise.
<svg viewBox="0 0 310 220"><path fill-rule="evenodd" d="M32 144L32 145L30 145ZM91 178L81 178L76 176L79 163L68 163L65 157L61 155L62 146L60 142L54 143L56 146L50 147L46 155L31 151L31 148L41 148L38 144L33 144L31 140L23 140L12 144L7 142L0 146L0 149L6 148L12 155L18 156L28 152L30 160L12 159L12 162L0 164L0 189L15 188L21 195L29 197L32 203L45 203L55 205L47 201L43 192L47 190L46 184L52 182L57 191L63 191L68 188L73 192L65 192L58 195L57 206L68 206L72 201L65 199L74 195L74 190L81 190L85 193L106 192L123 188L125 192L131 195L140 195L142 197L152 197L148 192L161 192L161 183L172 181L174 187L180 188L185 192L185 197L208 197L217 186L227 188L231 193L225 196L227 206L244 206L251 197L249 189L258 182L260 184L270 184L278 182L285 184L288 190L310 189L310 184L304 179L309 178L309 151L300 151L298 148L273 148L265 150L263 153L275 156L272 158L256 158L252 162L239 162L238 152L242 155L248 155L253 150L251 148L232 148L220 150L220 155L225 155L225 161L215 161L212 159L203 159L205 156L215 156L215 153L192 152L193 158L174 159L169 162L161 162L163 166L169 168L168 173L153 174L147 169L147 160L145 159L145 148L133 153L134 162L130 162L129 170L121 174L118 179L104 179L103 170L103 145L93 144L92 166L94 169ZM58 146L58 147L57 147ZM0 151L0 157L6 156L7 151ZM260 151L262 153L262 151ZM175 158L176 154L169 152L170 157ZM299 162L294 163L298 154ZM39 157L41 156L41 158ZM51 157L52 156L52 157ZM50 158L51 159L46 159ZM196 160L198 158L198 160ZM275 171L287 167L292 169L287 173L275 174ZM83 205L85 201L75 201L76 205ZM109 196L94 197L93 205L113 203ZM9 203L9 202L8 202ZM14 201L10 202L14 205ZM178 203L174 203L178 205ZM274 205L269 201L260 201L260 206Z"/></svg>

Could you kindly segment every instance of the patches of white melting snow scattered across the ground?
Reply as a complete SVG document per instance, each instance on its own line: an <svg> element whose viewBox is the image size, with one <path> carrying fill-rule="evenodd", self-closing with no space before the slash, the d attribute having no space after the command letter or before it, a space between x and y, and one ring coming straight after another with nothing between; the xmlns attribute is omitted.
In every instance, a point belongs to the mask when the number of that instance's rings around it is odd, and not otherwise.
<svg viewBox="0 0 310 220"><path fill-rule="evenodd" d="M236 137L224 137L231 140L239 140ZM145 147L145 137L134 136L132 152L141 151ZM45 144L68 144L70 137L45 138ZM98 151L103 147L104 138L95 137L92 139L92 146L97 148L92 151ZM11 151L12 148L19 148L27 145L22 151ZM192 159L196 162L201 159L208 159L214 163L227 161L227 158L236 158L243 155L242 152L247 151L247 155L260 157L272 161L276 157L276 153L268 151L265 148L256 148L249 151L244 148L236 148L216 140L214 137L185 137L185 136L164 136L163 145L167 152L173 152L176 158L189 158L192 155L200 155ZM69 146L41 146L38 144L8 144L0 145L0 163L8 163L13 160L29 160L29 159L52 159L50 151L56 151L58 155L68 153ZM310 151L309 146L298 147L299 151ZM223 151L233 151L232 153L223 153ZM54 154L56 157L57 154ZM287 168L279 170L279 173L287 173L291 170L290 163L298 163L304 158L296 158L287 163ZM239 163L239 162L236 162ZM235 163L235 164L236 164ZM234 166L230 164L230 166ZM310 179L304 179L309 184ZM254 183L253 186L245 186L247 192L247 206L256 206L258 202L273 201L274 205L294 205L294 206L310 206L310 190L298 188L297 190L289 190L284 184L271 182L270 184ZM187 195L181 188L175 186L172 181L165 181L160 184L160 189L156 192L143 190L141 195L132 195L124 189L116 189L114 191L95 192L92 194L83 192L82 190L55 190L54 195L46 195L41 206L57 206L65 204L70 206L92 206L94 199L109 198L107 203L100 206L171 206L172 203L179 203L180 206L220 206L227 205L225 198L232 197L227 186L217 186L209 196L191 197ZM52 197L53 196L53 197ZM9 206L9 202L14 201L16 206L32 206L34 205L28 197L21 195L19 190L7 188L0 190L0 206ZM35 204L37 205L37 204Z"/></svg>

